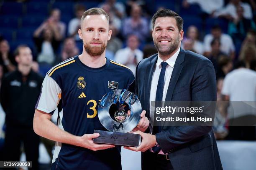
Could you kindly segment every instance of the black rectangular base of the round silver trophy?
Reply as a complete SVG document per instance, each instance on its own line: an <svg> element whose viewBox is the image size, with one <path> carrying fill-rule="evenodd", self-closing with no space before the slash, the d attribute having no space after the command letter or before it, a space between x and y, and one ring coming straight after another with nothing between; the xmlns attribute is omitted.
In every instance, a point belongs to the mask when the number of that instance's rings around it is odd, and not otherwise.
<svg viewBox="0 0 256 170"><path fill-rule="evenodd" d="M138 147L141 143L141 136L139 134L109 132L103 130L94 130L94 133L100 134L98 138L93 138L94 143L104 143L133 147Z"/></svg>

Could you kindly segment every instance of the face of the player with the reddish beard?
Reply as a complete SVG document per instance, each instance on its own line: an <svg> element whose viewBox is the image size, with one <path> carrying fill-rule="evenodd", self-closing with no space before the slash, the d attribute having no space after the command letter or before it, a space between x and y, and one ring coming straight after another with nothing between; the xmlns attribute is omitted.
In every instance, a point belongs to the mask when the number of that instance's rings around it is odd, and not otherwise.
<svg viewBox="0 0 256 170"><path fill-rule="evenodd" d="M99 56L105 51L112 32L105 15L87 15L78 33L83 40L84 50L90 56Z"/></svg>

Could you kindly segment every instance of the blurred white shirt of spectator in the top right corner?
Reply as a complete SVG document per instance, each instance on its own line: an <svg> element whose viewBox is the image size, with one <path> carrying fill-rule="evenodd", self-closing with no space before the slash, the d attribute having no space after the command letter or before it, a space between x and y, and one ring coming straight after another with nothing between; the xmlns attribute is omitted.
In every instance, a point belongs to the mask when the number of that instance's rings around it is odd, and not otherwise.
<svg viewBox="0 0 256 170"><path fill-rule="evenodd" d="M215 17L224 17L228 20L237 20L238 15L236 13L236 7L241 6L244 9L243 17L251 20L253 18L253 13L251 6L246 2L241 2L241 0L230 0L229 3L223 8L216 11L213 15Z"/></svg>

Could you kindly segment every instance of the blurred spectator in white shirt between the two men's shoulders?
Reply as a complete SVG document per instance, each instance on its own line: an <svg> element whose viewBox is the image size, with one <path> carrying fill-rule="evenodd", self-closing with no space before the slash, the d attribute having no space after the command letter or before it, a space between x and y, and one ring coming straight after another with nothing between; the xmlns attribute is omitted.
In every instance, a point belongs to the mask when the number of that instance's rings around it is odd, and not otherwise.
<svg viewBox="0 0 256 170"><path fill-rule="evenodd" d="M115 54L115 61L129 67L134 75L138 62L143 59L143 52L138 47L138 37L130 35L127 39L127 47L118 50Z"/></svg>

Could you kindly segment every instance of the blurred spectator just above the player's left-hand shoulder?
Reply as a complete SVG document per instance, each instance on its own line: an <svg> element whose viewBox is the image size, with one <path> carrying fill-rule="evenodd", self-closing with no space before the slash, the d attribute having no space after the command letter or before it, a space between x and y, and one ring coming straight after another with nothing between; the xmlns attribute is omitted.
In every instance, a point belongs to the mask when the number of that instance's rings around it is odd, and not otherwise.
<svg viewBox="0 0 256 170"><path fill-rule="evenodd" d="M79 54L79 50L76 46L76 42L74 41L74 38L68 37L64 40L63 49L61 51L61 61L59 62L67 60L78 54Z"/></svg>

